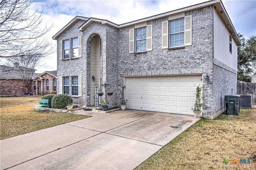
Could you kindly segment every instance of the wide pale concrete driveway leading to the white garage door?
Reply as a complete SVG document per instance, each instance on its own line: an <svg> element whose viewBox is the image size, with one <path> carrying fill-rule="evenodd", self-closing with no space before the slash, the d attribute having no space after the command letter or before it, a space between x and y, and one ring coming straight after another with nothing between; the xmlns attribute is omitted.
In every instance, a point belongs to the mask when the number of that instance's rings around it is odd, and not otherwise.
<svg viewBox="0 0 256 170"><path fill-rule="evenodd" d="M196 123L192 116L115 111L0 140L3 169L134 169Z"/></svg>

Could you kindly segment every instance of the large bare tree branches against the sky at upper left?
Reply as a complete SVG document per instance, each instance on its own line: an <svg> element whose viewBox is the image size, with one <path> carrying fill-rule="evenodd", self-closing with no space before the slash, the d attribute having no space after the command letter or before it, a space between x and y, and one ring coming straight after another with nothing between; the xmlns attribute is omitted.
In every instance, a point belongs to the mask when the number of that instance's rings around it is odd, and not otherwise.
<svg viewBox="0 0 256 170"><path fill-rule="evenodd" d="M0 57L46 57L54 52L48 42L42 12L31 13L30 0L0 0Z"/></svg>

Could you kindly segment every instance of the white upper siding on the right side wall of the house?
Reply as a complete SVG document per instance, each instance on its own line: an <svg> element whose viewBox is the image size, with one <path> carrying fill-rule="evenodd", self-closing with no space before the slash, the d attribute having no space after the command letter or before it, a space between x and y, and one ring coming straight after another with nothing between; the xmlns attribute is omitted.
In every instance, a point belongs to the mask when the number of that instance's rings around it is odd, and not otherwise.
<svg viewBox="0 0 256 170"><path fill-rule="evenodd" d="M229 52L229 32L220 16L214 10L214 58L237 71L237 45L232 38L232 54Z"/></svg>

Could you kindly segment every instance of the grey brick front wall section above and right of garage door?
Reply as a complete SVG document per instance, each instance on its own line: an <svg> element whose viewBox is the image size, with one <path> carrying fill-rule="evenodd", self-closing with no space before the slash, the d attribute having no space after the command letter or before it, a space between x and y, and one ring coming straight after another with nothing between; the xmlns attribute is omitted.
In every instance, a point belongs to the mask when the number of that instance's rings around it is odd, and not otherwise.
<svg viewBox="0 0 256 170"><path fill-rule="evenodd" d="M192 45L180 49L162 49L162 22L168 17L148 22L152 24L152 51L129 53L129 26L119 29L118 81L124 77L150 75L188 75L206 73L211 77L206 83L203 78L203 114L214 114L213 106L213 6L185 13L192 15Z"/></svg>

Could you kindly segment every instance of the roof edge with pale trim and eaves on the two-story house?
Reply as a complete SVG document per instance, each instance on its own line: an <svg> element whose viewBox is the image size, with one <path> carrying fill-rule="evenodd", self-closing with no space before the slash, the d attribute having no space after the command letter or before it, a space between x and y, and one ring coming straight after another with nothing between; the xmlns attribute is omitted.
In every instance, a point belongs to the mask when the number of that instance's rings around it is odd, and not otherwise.
<svg viewBox="0 0 256 170"><path fill-rule="evenodd" d="M114 28L123 28L123 27L127 27L127 26L131 26L131 25L135 25L135 24L140 24L143 22L148 22L151 20L156 20L158 18L163 18L163 17L167 17L167 16L171 16L174 14L178 14L178 13L182 13L182 12L186 12L186 11L190 11L190 10L194 10L197 8L202 8L205 6L210 6L213 5L214 8L216 8L218 14L220 14L220 17L222 18L223 22L225 23L226 27L228 28L228 30L230 31L230 34L232 35L232 37L234 38L234 40L236 41L237 45L241 45L241 42L238 38L238 35L236 34L236 30L228 16L228 13L226 12L226 9L224 8L224 5L222 4L221 0L210 0L207 2L203 2L200 4L196 4L196 5L192 5L192 6L188 6L185 8L180 8L178 10L173 10L170 12L165 12L162 14L158 14L158 15L154 15L154 16L150 16L147 18L143 18L140 20L135 20L132 22L127 22L124 24L114 24L113 22L110 22L108 20L102 20L102 19L98 19L98 18L86 18L86 17L81 17L81 16L76 16L73 20L71 20L64 28L62 28L62 30L60 30L57 34L55 34L52 39L57 40L58 37L63 34L68 28L70 28L72 25L74 25L78 20L84 20L84 24L82 24L78 30L79 31L83 31L86 27L88 27L90 24L92 24L92 22L98 22L101 24L107 24L110 25Z"/></svg>

